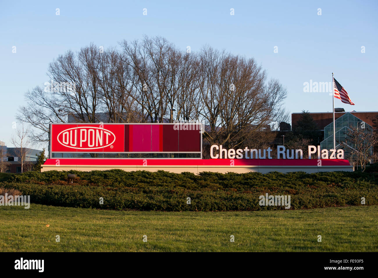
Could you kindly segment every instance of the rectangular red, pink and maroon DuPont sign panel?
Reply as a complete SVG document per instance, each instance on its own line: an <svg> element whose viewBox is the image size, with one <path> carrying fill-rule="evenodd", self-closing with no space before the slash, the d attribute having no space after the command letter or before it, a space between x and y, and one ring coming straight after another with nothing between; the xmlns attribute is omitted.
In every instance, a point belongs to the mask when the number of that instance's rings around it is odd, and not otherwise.
<svg viewBox="0 0 378 278"><path fill-rule="evenodd" d="M201 152L200 124L51 124L51 152Z"/></svg>

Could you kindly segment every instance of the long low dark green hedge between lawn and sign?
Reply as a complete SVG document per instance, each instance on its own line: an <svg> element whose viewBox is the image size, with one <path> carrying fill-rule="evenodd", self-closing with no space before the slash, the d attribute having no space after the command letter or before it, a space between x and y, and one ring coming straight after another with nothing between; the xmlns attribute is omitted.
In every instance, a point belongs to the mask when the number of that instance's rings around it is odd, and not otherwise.
<svg viewBox="0 0 378 278"><path fill-rule="evenodd" d="M67 174L77 174L68 183ZM0 175L0 186L15 188L31 201L64 207L158 211L277 210L259 205L259 196L290 195L291 209L378 205L378 174L271 172L219 174L165 171L48 171ZM99 198L104 198L104 204ZM187 197L191 204L187 204Z"/></svg>

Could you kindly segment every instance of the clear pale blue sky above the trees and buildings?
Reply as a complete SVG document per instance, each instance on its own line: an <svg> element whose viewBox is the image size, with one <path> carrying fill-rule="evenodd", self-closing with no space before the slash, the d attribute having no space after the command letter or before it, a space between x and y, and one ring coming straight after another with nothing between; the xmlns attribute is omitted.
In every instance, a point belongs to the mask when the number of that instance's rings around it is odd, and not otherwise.
<svg viewBox="0 0 378 278"><path fill-rule="evenodd" d="M11 147L12 122L24 93L48 81L48 63L59 54L90 42L106 49L144 34L166 37L182 50L208 44L254 57L287 87L290 112L332 111L328 93L303 92L310 79L332 81L332 71L356 104L335 99L336 107L377 111L377 12L377 1L345 0L2 1L0 140Z"/></svg>

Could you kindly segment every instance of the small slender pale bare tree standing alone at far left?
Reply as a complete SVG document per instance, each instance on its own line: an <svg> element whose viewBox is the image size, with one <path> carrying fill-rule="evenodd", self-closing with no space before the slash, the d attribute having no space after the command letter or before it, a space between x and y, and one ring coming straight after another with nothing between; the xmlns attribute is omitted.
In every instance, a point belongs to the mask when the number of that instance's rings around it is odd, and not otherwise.
<svg viewBox="0 0 378 278"><path fill-rule="evenodd" d="M15 134L11 137L11 143L15 147L15 156L18 157L21 163L21 172L23 172L23 167L26 163L26 157L29 154L29 140L28 140L28 127L24 123L18 124Z"/></svg>

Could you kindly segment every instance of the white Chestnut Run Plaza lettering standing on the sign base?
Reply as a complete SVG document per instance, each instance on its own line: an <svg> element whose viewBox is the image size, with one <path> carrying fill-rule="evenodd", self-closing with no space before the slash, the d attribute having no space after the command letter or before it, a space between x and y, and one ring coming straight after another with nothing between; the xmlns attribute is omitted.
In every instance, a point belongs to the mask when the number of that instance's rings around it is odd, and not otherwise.
<svg viewBox="0 0 378 278"><path fill-rule="evenodd" d="M272 151L270 147L268 149L223 149L222 145L212 145L210 148L211 158L226 158L226 159L273 159ZM215 154L217 152L217 154ZM308 159L311 159L311 155L317 154L317 159L344 159L344 150L339 149L320 149L320 146L308 146ZM277 146L277 158L278 159L303 159L302 149L286 149L285 146Z"/></svg>

